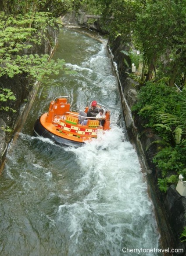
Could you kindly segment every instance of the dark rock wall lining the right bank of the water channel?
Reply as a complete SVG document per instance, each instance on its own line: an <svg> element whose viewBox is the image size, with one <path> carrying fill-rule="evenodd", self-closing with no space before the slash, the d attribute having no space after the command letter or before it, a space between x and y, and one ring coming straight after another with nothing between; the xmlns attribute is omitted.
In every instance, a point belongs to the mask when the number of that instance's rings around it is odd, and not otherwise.
<svg viewBox="0 0 186 256"><path fill-rule="evenodd" d="M110 47L109 47L110 45ZM108 43L108 52L114 63L117 64L116 75L122 100L123 115L130 141L138 153L142 170L147 173L148 192L154 204L154 211L158 228L161 234L161 246L163 249L182 249L183 252L164 253L165 256L186 256L186 242L180 241L180 234L186 226L186 197L182 197L171 186L167 193L161 193L157 187L158 170L152 162L157 153L158 145L152 143L160 140L158 134L154 134L150 128L143 128L146 120L138 115L133 116L131 108L136 102L137 91L133 85L135 81L128 77L130 70L125 67L121 50L127 51L118 37L114 42ZM126 57L126 56L125 56ZM129 63L129 62L128 62Z"/></svg>

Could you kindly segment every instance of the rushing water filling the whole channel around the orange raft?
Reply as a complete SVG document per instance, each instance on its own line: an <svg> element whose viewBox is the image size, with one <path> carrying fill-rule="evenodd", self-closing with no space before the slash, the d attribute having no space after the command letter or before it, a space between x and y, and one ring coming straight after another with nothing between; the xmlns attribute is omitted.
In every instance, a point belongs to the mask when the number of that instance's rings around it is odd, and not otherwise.
<svg viewBox="0 0 186 256"><path fill-rule="evenodd" d="M157 256L128 249L160 248L145 174L128 141L107 40L64 29L54 59L74 74L41 85L29 116L8 148L0 175L0 255ZM58 85L58 86L57 86ZM81 148L59 147L32 136L39 115L55 96L72 109L97 100L111 110L104 137Z"/></svg>

